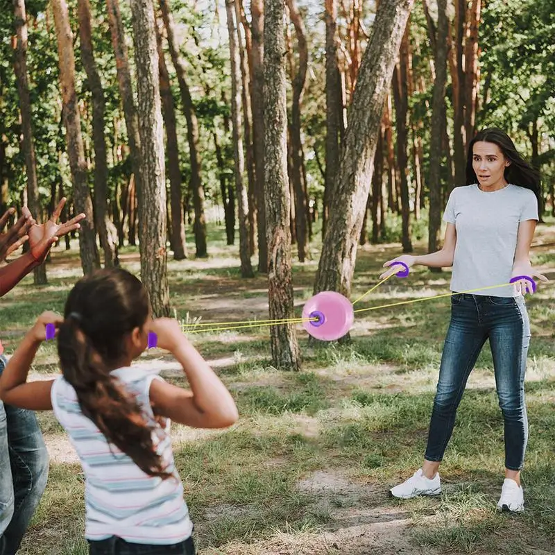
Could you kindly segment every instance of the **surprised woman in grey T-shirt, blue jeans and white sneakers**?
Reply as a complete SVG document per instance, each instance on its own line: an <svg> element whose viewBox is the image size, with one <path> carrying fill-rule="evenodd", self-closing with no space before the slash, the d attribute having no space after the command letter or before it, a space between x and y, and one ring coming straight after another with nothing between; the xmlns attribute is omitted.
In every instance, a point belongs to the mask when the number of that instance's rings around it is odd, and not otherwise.
<svg viewBox="0 0 555 555"><path fill-rule="evenodd" d="M390 260L384 266L391 267L380 276L386 278L399 271L395 262L409 267L453 266L451 291L455 293L424 463L390 492L401 499L441 493L438 468L453 431L456 409L481 348L489 339L505 432L505 480L497 508L520 512L524 510L520 471L528 438L524 373L530 341L523 296L531 291L531 284L518 280L513 285L495 286L522 275L547 281L529 261L538 221L540 178L516 151L511 138L490 128L470 143L466 181L466 187L452 191L445 207L443 248L425 256L403 255ZM457 293L481 287L484 290L472 294Z"/></svg>

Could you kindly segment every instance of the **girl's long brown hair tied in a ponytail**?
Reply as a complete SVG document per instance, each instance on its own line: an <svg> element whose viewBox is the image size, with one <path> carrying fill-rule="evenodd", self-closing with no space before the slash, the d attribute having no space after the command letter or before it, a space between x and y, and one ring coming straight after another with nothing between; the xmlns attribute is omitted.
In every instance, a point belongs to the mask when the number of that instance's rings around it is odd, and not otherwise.
<svg viewBox="0 0 555 555"><path fill-rule="evenodd" d="M126 356L124 338L150 314L148 293L135 276L105 269L78 281L65 304L58 332L62 373L83 414L151 476L171 477L155 451L153 427L135 397L110 374Z"/></svg>

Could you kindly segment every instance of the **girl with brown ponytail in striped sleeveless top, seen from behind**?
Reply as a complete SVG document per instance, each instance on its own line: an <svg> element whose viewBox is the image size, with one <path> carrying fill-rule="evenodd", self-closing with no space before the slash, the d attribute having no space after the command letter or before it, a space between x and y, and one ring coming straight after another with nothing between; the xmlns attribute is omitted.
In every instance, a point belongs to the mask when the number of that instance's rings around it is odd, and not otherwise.
<svg viewBox="0 0 555 555"><path fill-rule="evenodd" d="M62 375L26 383L47 323L56 326ZM150 331L182 364L190 393L131 366ZM89 554L194 554L169 420L224 428L237 420L237 407L178 322L151 320L146 289L135 276L96 271L71 290L64 318L42 314L6 366L0 398L53 409L69 434L85 472Z"/></svg>

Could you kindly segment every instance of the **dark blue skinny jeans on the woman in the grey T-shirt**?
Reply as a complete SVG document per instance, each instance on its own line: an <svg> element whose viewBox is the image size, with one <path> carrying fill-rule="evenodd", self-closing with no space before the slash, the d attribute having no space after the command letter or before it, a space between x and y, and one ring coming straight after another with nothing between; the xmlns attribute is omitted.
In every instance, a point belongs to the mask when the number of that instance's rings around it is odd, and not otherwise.
<svg viewBox="0 0 555 555"><path fill-rule="evenodd" d="M524 374L530 343L524 298L456 293L451 304L451 323L443 346L425 459L443 459L466 381L489 339L497 397L504 419L505 467L521 470L528 441Z"/></svg>

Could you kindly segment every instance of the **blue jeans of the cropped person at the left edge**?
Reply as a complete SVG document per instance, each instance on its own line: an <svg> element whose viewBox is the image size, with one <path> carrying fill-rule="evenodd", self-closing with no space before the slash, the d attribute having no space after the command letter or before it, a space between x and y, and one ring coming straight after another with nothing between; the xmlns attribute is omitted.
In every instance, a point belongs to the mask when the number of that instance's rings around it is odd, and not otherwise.
<svg viewBox="0 0 555 555"><path fill-rule="evenodd" d="M0 355L0 374L6 359ZM0 555L15 555L48 479L49 456L33 411L0 401Z"/></svg>

